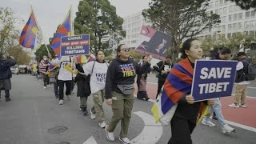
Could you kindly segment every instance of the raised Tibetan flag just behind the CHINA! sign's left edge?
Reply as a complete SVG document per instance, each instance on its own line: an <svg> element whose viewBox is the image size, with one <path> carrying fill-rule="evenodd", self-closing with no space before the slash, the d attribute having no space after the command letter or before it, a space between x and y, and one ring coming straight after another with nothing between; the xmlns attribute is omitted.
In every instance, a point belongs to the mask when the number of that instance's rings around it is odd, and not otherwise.
<svg viewBox="0 0 256 144"><path fill-rule="evenodd" d="M66 15L64 22L58 26L58 30L54 34L54 39L51 42L51 48L54 50L55 54L58 55L58 58L61 52L61 38L65 36L71 36L71 9Z"/></svg>

